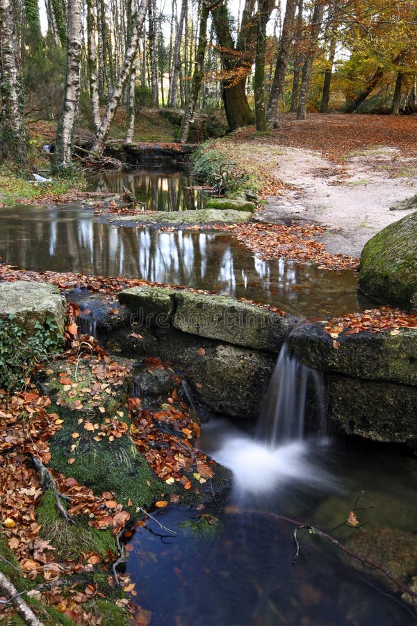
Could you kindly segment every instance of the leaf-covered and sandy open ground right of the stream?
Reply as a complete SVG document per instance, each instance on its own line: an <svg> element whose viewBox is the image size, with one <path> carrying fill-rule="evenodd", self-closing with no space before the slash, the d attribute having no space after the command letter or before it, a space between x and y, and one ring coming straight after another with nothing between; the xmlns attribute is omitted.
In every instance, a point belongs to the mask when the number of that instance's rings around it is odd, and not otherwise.
<svg viewBox="0 0 417 626"><path fill-rule="evenodd" d="M285 114L280 123L273 134L243 129L231 140L239 162L282 183L257 220L322 225L316 239L328 252L359 257L370 237L413 210L396 204L417 192L417 116Z"/></svg>

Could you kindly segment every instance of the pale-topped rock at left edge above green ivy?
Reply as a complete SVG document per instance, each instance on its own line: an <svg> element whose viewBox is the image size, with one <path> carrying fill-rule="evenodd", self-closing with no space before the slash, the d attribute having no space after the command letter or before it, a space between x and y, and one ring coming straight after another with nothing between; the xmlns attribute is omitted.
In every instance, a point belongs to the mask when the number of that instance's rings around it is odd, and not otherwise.
<svg viewBox="0 0 417 626"><path fill-rule="evenodd" d="M13 315L13 322L26 335L33 334L36 322L44 325L47 319L55 323L62 335L66 312L65 298L53 284L24 280L0 283L0 318Z"/></svg>

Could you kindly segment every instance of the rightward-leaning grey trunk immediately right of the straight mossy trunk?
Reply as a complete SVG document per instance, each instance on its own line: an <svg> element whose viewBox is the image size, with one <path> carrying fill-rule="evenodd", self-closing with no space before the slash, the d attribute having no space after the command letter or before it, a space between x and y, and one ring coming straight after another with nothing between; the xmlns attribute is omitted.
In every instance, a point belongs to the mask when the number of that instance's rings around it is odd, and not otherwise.
<svg viewBox="0 0 417 626"><path fill-rule="evenodd" d="M281 38L279 39L277 63L275 65L274 79L268 102L266 117L269 128L278 127L278 107L279 101L284 92L284 81L286 68L288 65L288 56L290 54L291 40L294 36L294 17L297 0L287 0L284 24L282 25Z"/></svg>

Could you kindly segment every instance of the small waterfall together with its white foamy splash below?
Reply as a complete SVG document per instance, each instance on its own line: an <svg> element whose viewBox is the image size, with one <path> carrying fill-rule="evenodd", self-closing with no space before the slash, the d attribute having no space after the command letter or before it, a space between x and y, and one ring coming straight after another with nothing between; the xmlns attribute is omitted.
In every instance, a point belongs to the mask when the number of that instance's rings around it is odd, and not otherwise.
<svg viewBox="0 0 417 626"><path fill-rule="evenodd" d="M327 452L327 406L319 372L300 363L288 344L279 353L255 437L221 426L220 446L209 450L234 474L239 499L255 499L291 483L333 490L322 459ZM213 433L212 433L213 434Z"/></svg>

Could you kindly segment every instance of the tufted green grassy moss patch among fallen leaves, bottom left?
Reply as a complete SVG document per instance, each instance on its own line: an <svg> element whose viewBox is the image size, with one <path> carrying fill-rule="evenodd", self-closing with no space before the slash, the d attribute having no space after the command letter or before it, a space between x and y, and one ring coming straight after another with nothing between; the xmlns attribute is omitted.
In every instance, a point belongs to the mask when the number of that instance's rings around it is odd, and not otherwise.
<svg viewBox="0 0 417 626"><path fill-rule="evenodd" d="M67 524L56 508L51 490L44 493L37 508L37 520L42 526L40 536L49 540L56 549L58 559L77 559L81 552L97 552L101 556L106 556L108 551L117 554L111 531L99 531L81 520Z"/></svg>

